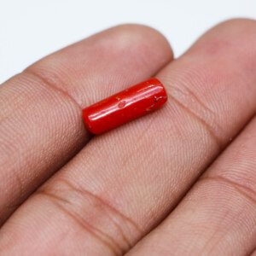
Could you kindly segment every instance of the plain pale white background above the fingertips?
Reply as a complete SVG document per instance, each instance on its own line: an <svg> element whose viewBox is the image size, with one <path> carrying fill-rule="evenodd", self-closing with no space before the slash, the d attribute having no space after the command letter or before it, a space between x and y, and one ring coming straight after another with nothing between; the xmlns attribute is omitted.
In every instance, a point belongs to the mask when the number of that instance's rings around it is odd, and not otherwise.
<svg viewBox="0 0 256 256"><path fill-rule="evenodd" d="M202 32L256 18L255 0L0 0L0 83L44 55L120 23L160 30L180 55Z"/></svg>

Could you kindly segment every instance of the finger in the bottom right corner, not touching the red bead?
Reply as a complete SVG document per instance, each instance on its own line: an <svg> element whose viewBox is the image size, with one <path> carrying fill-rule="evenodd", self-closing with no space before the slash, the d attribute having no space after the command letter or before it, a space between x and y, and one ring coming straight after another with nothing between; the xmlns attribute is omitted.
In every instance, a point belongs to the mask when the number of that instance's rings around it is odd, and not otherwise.
<svg viewBox="0 0 256 256"><path fill-rule="evenodd" d="M129 255L250 255L256 248L256 118Z"/></svg>

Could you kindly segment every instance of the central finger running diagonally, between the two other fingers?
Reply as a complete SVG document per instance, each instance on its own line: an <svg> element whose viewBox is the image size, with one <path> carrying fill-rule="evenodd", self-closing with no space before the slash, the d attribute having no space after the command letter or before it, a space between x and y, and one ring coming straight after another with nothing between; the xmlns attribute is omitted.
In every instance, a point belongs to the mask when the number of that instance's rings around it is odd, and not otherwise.
<svg viewBox="0 0 256 256"><path fill-rule="evenodd" d="M251 20L208 32L157 75L170 95L166 108L90 141L3 227L0 248L127 251L255 113L255 40ZM66 245L56 247L63 236Z"/></svg>

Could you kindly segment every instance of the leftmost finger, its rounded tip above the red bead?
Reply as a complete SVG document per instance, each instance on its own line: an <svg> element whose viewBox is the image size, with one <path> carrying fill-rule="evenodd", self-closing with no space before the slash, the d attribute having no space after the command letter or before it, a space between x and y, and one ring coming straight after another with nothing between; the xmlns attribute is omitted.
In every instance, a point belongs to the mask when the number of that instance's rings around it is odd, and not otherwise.
<svg viewBox="0 0 256 256"><path fill-rule="evenodd" d="M89 140L81 108L172 59L160 33L117 26L49 55L0 89L0 224Z"/></svg>

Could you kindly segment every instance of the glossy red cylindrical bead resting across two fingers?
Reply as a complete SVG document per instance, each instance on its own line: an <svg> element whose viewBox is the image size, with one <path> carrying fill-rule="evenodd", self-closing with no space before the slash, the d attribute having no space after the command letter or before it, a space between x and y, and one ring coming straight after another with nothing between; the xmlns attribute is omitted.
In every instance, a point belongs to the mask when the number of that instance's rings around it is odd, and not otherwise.
<svg viewBox="0 0 256 256"><path fill-rule="evenodd" d="M163 84L148 79L84 108L84 125L91 133L101 134L160 108L166 101Z"/></svg>

